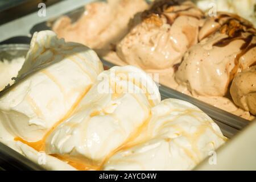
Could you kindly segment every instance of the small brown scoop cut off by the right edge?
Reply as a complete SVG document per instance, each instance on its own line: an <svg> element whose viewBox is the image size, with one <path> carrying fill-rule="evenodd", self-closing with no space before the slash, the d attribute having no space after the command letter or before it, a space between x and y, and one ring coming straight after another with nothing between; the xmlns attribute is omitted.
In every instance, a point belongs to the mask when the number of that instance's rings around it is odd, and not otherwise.
<svg viewBox="0 0 256 182"><path fill-rule="evenodd" d="M256 66L245 69L234 77L230 94L236 105L256 115Z"/></svg>

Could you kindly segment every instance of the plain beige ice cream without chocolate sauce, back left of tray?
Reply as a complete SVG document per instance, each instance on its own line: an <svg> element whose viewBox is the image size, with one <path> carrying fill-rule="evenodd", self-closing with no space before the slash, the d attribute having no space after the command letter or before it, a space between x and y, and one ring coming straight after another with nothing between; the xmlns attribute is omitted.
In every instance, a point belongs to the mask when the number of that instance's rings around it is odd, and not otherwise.
<svg viewBox="0 0 256 182"><path fill-rule="evenodd" d="M59 38L82 43L94 49L112 49L127 34L129 20L148 8L144 0L109 0L85 6L84 14L75 22L64 16L52 30Z"/></svg>

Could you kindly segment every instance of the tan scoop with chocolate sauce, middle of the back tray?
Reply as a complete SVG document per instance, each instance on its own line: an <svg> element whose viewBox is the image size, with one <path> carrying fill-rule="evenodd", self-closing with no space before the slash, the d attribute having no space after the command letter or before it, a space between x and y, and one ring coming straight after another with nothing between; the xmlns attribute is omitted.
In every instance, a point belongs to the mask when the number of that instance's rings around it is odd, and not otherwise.
<svg viewBox="0 0 256 182"><path fill-rule="evenodd" d="M197 43L202 17L192 2L157 1L135 18L129 34L117 44L117 55L144 70L170 68Z"/></svg>

